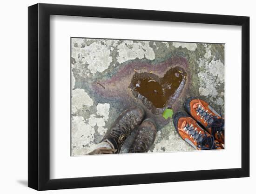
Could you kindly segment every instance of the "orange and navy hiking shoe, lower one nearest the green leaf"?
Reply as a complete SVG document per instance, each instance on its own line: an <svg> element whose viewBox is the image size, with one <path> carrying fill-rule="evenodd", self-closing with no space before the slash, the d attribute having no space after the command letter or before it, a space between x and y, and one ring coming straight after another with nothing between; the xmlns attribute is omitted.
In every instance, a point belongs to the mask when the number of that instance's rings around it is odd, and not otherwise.
<svg viewBox="0 0 256 194"><path fill-rule="evenodd" d="M223 149L213 135L203 130L199 124L184 112L177 112L173 115L174 127L183 140L197 150Z"/></svg>

